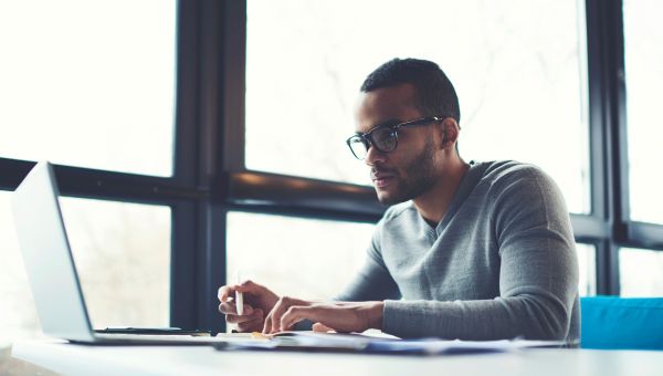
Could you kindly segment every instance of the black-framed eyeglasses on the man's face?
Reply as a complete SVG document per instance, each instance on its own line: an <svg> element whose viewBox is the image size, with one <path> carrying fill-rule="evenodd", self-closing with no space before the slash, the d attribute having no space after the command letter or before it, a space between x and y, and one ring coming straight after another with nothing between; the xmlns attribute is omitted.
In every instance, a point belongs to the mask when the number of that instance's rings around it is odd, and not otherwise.
<svg viewBox="0 0 663 376"><path fill-rule="evenodd" d="M356 134L346 140L350 152L355 158L362 160L368 154L368 149L372 146L380 153L391 153L398 146L398 130L404 127L413 127L419 125L429 125L439 123L444 119L443 116L431 116L418 118L399 124L378 125L365 134Z"/></svg>

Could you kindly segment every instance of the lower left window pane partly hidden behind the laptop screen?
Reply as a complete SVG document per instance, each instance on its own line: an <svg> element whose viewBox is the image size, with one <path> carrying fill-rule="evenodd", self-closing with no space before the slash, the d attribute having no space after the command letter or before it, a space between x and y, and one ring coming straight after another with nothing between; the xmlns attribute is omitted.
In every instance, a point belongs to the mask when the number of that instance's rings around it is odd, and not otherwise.
<svg viewBox="0 0 663 376"><path fill-rule="evenodd" d="M170 209L75 198L61 205L93 327L168 326ZM0 192L0 331L39 336L9 192Z"/></svg>

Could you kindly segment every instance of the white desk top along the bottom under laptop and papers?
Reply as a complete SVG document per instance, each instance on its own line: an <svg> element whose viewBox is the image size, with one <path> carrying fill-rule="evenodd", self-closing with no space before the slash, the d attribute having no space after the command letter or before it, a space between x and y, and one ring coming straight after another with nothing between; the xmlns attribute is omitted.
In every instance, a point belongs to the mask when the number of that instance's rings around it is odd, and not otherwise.
<svg viewBox="0 0 663 376"><path fill-rule="evenodd" d="M663 352L527 349L516 353L382 356L218 352L212 347L81 346L25 342L12 357L66 375L663 375Z"/></svg>

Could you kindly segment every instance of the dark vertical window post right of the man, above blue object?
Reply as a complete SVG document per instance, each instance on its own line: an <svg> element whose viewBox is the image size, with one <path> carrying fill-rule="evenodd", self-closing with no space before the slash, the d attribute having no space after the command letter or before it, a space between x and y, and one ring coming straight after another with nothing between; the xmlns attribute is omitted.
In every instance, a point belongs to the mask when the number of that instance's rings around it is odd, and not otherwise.
<svg viewBox="0 0 663 376"><path fill-rule="evenodd" d="M587 0L592 216L609 233L598 240L597 291L619 294L617 243L627 240L628 150L620 0Z"/></svg>

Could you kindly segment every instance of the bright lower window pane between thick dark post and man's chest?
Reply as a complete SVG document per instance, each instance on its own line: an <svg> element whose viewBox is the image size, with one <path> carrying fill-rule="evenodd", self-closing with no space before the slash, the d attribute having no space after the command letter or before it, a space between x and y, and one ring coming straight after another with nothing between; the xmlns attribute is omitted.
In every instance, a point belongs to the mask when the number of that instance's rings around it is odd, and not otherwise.
<svg viewBox="0 0 663 376"><path fill-rule="evenodd" d="M229 282L240 271L277 294L332 299L364 264L372 230L373 224L230 212Z"/></svg>

